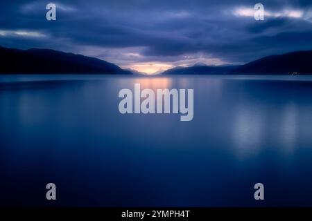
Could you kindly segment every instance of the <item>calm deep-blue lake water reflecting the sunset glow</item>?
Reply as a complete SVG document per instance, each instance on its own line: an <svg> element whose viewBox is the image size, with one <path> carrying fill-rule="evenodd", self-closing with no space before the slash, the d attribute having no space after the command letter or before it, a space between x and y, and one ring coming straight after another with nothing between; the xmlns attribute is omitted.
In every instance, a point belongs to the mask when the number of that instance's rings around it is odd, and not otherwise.
<svg viewBox="0 0 312 221"><path fill-rule="evenodd" d="M121 115L135 83L194 88L193 121ZM311 186L312 77L0 77L0 205L312 206Z"/></svg>

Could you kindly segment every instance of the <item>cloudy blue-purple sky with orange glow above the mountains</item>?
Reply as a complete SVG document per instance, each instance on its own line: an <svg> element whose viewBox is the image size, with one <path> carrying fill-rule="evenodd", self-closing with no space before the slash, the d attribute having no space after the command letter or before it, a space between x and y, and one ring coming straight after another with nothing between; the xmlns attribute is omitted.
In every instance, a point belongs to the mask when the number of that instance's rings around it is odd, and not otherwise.
<svg viewBox="0 0 312 221"><path fill-rule="evenodd" d="M46 20L55 3L56 21ZM264 20L254 19L254 5ZM312 50L312 1L1 1L0 46L49 48L153 74Z"/></svg>

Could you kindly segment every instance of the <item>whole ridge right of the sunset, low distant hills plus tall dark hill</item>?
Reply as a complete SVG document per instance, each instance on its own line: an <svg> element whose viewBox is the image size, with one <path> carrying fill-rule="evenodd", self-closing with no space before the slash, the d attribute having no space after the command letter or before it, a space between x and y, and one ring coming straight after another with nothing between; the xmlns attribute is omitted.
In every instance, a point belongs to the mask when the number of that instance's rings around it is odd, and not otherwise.
<svg viewBox="0 0 312 221"><path fill-rule="evenodd" d="M176 67L164 71L163 75L213 75L213 74L312 74L312 50L271 55L241 66L191 66Z"/></svg>

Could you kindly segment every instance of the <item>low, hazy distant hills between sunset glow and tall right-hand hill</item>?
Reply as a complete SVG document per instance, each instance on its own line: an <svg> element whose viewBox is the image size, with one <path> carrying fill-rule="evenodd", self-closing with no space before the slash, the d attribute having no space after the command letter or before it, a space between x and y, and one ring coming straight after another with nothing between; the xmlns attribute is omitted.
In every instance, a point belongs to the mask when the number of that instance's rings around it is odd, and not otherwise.
<svg viewBox="0 0 312 221"><path fill-rule="evenodd" d="M228 74L232 73L239 66L195 66L175 67L168 69L162 75L207 75L207 74Z"/></svg>

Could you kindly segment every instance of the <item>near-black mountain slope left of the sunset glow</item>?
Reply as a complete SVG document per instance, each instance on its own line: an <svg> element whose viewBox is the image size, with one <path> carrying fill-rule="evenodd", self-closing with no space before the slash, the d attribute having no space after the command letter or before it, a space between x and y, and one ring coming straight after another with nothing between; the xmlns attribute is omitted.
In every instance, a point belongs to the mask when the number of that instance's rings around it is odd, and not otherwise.
<svg viewBox="0 0 312 221"><path fill-rule="evenodd" d="M101 59L49 49L0 47L0 61L0 74L132 74Z"/></svg>

